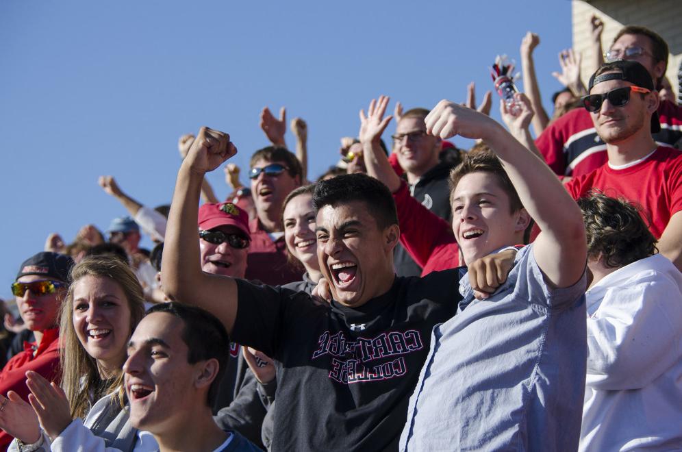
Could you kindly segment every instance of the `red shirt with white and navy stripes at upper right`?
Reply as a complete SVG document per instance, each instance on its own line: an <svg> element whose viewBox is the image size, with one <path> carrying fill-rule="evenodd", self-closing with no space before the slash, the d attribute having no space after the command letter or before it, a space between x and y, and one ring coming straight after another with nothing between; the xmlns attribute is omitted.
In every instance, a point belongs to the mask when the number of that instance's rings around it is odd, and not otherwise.
<svg viewBox="0 0 682 452"><path fill-rule="evenodd" d="M682 138L682 108L663 101L658 108L661 131L653 134L659 145L674 145ZM545 162L559 176L588 174L608 160L606 143L599 138L588 110L576 108L548 125L535 140Z"/></svg>

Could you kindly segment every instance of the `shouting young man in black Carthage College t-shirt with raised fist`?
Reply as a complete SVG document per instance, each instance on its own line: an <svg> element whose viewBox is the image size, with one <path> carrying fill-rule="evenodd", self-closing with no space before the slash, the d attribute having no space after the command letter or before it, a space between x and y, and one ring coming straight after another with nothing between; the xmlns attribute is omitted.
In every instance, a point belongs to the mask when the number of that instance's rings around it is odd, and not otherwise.
<svg viewBox="0 0 682 452"><path fill-rule="evenodd" d="M395 205L366 175L318 183L318 258L333 301L201 272L197 209L207 171L236 153L202 128L177 177L162 282L216 314L232 340L278 362L273 450L397 449L431 329L457 310L455 270L396 278ZM244 302L242 302L244 301Z"/></svg>

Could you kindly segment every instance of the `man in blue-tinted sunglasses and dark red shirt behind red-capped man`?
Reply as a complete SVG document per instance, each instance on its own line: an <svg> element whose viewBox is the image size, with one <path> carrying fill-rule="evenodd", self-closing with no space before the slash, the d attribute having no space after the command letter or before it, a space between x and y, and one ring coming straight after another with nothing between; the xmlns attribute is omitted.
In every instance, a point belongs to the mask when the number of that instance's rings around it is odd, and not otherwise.
<svg viewBox="0 0 682 452"><path fill-rule="evenodd" d="M301 186L301 163L283 147L265 147L251 156L249 179L256 218L249 223L251 246L247 279L265 284L287 284L301 280L301 271L287 260L281 227L282 203Z"/></svg>

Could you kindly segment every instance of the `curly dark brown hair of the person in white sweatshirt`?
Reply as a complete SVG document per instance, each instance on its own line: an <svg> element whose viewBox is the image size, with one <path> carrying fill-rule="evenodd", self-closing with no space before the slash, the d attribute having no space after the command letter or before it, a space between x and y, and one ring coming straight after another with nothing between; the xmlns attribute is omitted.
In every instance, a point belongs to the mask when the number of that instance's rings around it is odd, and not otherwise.
<svg viewBox="0 0 682 452"><path fill-rule="evenodd" d="M620 268L657 253L656 239L633 203L593 190L578 205L588 237L588 258L601 258L605 267Z"/></svg>

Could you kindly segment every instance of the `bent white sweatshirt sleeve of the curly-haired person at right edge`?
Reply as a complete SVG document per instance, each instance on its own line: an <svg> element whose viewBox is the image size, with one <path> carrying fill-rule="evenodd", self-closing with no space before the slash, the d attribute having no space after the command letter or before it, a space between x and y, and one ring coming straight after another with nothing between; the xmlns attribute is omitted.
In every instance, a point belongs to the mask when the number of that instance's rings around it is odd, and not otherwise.
<svg viewBox="0 0 682 452"><path fill-rule="evenodd" d="M681 334L682 296L668 275L607 290L588 316L588 385L643 388L678 362Z"/></svg>

